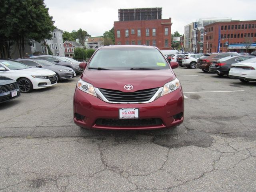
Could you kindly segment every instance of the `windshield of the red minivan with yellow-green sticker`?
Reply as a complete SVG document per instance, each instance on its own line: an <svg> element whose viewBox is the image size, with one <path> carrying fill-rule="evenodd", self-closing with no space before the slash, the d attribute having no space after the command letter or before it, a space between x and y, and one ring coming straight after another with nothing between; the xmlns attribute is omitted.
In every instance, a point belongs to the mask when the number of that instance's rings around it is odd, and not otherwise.
<svg viewBox="0 0 256 192"><path fill-rule="evenodd" d="M109 70L161 70L169 69L166 59L157 49L149 48L110 48L96 52L89 69Z"/></svg>

